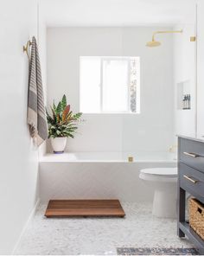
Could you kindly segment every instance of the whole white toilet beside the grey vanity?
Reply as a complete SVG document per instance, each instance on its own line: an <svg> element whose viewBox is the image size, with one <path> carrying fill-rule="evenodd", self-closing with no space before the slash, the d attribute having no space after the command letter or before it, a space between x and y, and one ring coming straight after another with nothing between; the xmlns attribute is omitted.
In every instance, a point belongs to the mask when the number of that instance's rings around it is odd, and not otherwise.
<svg viewBox="0 0 204 256"><path fill-rule="evenodd" d="M177 168L140 170L139 177L155 190L152 214L176 218Z"/></svg>

